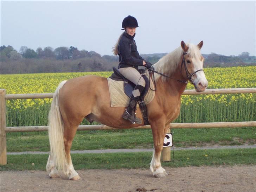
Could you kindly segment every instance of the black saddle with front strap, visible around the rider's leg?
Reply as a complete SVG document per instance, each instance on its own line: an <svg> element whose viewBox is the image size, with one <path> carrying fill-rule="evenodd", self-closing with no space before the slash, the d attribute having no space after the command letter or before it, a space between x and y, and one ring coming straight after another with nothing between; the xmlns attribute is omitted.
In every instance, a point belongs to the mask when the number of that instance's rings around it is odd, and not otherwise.
<svg viewBox="0 0 256 192"><path fill-rule="evenodd" d="M113 71L114 72L111 74L111 76L109 78L113 79L115 81L123 81L124 93L130 98L133 94L132 92L136 85L133 82L129 81L127 78L125 78L115 67L113 67ZM142 91L138 102L139 102L139 106L140 106L144 124L147 125L147 124L149 124L149 122L148 122L148 116L147 116L147 106L145 104L144 98L149 89L149 79L146 76L144 69L139 69L138 71L140 72L140 74L142 75L142 77L144 78L144 80L146 82L145 88Z"/></svg>

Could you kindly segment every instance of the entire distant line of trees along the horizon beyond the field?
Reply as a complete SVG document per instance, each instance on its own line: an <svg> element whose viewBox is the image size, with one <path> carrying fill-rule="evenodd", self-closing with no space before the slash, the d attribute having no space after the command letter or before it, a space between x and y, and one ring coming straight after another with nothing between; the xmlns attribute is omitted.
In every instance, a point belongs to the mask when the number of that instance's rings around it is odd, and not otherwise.
<svg viewBox="0 0 256 192"><path fill-rule="evenodd" d="M166 53L142 54L141 56L152 64L156 63ZM224 67L255 65L256 57L248 52L238 56L224 56L216 53L203 54L205 67ZM36 51L21 46L19 52L12 46L0 47L0 73L44 73L44 72L83 72L111 71L118 65L118 56L109 56L95 51L78 50L77 47L38 47Z"/></svg>

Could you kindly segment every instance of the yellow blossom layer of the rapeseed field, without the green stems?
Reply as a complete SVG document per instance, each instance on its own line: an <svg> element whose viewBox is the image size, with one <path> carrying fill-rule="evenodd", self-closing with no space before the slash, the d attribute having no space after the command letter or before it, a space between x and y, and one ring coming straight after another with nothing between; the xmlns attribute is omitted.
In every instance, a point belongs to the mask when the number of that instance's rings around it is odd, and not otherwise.
<svg viewBox="0 0 256 192"><path fill-rule="evenodd" d="M206 68L204 69L208 88L251 88L256 87L256 66L232 67L232 68ZM76 73L36 73L36 74L18 74L1 75L0 88L6 89L6 94L25 94L25 93L51 93L54 92L58 84L66 79L79 77L83 75L98 75L109 77L112 72L76 72ZM187 89L193 89L192 84L187 85ZM229 100L228 100L229 98ZM182 96L182 103L189 104L196 101L210 100L220 103L230 104L242 98L245 102L255 102L256 97L253 94L223 94L223 95L198 95L196 97ZM37 100L7 100L10 108L39 107L49 103L50 99Z"/></svg>

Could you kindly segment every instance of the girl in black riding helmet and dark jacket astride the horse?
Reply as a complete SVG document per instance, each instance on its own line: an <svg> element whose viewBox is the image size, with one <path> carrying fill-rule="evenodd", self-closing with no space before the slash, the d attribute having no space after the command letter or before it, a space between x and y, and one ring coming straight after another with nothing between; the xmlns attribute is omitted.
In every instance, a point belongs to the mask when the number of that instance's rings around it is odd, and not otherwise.
<svg viewBox="0 0 256 192"><path fill-rule="evenodd" d="M119 55L119 72L131 82L133 82L136 87L133 90L128 108L125 109L122 115L123 119L129 120L132 123L141 124L142 120L139 118L135 119L134 108L139 100L139 97L145 87L145 80L138 71L138 66L145 66L147 68L151 67L151 63L146 62L139 52L137 51L137 46L135 40L135 31L138 26L137 20L128 15L123 19L122 30L125 30L119 40L117 41L113 52L115 55ZM135 120L135 121L134 121Z"/></svg>

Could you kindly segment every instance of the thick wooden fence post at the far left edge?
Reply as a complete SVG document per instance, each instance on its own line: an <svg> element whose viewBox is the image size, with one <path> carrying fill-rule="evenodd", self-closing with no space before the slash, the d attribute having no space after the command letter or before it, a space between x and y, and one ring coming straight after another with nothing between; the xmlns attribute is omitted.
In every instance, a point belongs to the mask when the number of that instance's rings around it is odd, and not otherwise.
<svg viewBox="0 0 256 192"><path fill-rule="evenodd" d="M5 89L0 89L0 165L7 164L6 156L6 102Z"/></svg>

